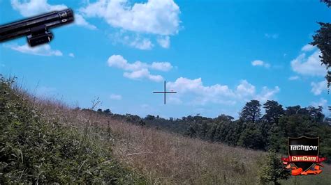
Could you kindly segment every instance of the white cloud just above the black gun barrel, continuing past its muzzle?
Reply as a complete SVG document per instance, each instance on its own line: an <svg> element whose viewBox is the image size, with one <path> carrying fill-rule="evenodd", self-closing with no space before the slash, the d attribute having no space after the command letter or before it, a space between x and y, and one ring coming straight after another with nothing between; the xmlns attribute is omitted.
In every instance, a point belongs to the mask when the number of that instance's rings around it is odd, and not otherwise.
<svg viewBox="0 0 331 185"><path fill-rule="evenodd" d="M51 11L64 10L67 8L64 4L51 5L47 0L30 0L30 1L20 1L11 0L11 5L14 10L20 12L24 17L31 17L41 13L48 13ZM75 14L75 24L79 26L84 26L88 29L96 29L96 26L89 24L84 17L80 14Z"/></svg>

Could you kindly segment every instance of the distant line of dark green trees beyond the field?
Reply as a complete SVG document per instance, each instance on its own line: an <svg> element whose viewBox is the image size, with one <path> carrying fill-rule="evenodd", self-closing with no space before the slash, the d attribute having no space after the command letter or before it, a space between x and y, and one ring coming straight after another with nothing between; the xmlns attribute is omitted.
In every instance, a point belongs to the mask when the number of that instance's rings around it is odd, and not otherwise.
<svg viewBox="0 0 331 185"><path fill-rule="evenodd" d="M264 115L261 108L265 109ZM223 114L217 118L189 115L180 119L165 119L159 115L140 118L138 115L113 114L109 109L98 109L97 112L142 127L153 127L191 138L253 150L274 150L281 154L288 154L288 137L319 137L320 155L326 156L328 163L331 162L331 119L325 118L322 106L283 108L276 101L268 100L261 105L258 100L251 100L242 108L237 120Z"/></svg>

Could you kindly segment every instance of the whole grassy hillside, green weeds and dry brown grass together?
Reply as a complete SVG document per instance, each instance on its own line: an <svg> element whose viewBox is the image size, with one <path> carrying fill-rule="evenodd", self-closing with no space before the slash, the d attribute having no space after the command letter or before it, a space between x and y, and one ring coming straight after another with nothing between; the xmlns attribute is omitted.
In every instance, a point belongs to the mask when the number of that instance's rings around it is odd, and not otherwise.
<svg viewBox="0 0 331 185"><path fill-rule="evenodd" d="M73 109L33 97L3 78L0 112L0 184L256 184L265 163L265 152ZM331 168L323 170L281 183L328 184Z"/></svg>

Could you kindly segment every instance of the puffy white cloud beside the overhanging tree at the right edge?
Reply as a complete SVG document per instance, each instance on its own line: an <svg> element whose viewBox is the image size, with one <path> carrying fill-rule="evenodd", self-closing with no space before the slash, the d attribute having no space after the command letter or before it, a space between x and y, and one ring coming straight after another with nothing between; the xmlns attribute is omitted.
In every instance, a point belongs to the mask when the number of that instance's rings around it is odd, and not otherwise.
<svg viewBox="0 0 331 185"><path fill-rule="evenodd" d="M307 76L325 76L325 66L321 65L320 50L314 51L311 56L306 57L306 54L300 54L290 62L292 70L298 74Z"/></svg>

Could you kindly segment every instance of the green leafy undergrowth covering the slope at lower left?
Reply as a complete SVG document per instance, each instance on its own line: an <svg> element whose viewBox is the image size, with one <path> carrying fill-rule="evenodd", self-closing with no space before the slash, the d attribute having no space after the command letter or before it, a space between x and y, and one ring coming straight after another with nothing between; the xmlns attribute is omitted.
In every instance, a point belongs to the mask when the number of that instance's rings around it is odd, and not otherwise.
<svg viewBox="0 0 331 185"><path fill-rule="evenodd" d="M0 184L112 183L145 184L122 167L110 145L99 145L75 127L43 120L31 101L0 81Z"/></svg>

